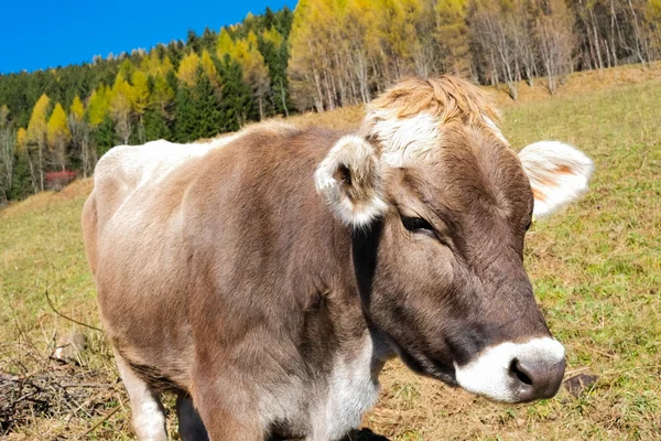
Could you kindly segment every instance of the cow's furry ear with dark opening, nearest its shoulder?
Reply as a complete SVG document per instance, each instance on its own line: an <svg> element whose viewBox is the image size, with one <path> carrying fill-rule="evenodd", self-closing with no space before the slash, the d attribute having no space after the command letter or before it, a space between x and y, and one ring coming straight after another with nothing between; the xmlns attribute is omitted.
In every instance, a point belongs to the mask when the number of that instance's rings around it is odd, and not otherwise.
<svg viewBox="0 0 661 441"><path fill-rule="evenodd" d="M335 214L355 228L369 226L387 209L378 152L360 137L340 138L318 165L314 178L317 191Z"/></svg>

